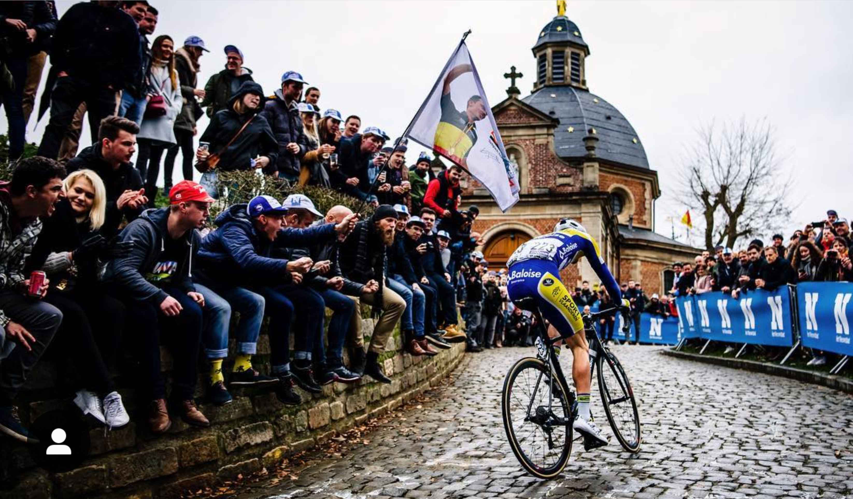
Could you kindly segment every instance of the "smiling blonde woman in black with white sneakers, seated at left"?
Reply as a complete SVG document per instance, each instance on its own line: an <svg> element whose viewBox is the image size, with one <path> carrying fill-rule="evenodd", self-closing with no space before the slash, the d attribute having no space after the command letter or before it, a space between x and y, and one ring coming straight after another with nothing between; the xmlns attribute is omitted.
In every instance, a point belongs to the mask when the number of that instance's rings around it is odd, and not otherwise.
<svg viewBox="0 0 853 499"><path fill-rule="evenodd" d="M102 291L97 277L103 261L129 252L130 244L108 244L101 235L107 189L91 170L78 170L64 182L66 197L44 219L27 260L27 273L44 270L50 281L44 301L64 317L48 349L73 363L81 389L74 403L104 425L125 426L130 417L109 374L125 323L125 306Z"/></svg>

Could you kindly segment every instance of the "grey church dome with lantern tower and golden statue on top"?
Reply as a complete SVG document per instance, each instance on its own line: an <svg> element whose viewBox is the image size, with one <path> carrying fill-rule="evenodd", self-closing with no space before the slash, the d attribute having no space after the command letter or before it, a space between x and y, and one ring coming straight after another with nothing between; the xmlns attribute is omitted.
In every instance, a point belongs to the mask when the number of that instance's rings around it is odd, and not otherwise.
<svg viewBox="0 0 853 499"><path fill-rule="evenodd" d="M533 93L522 101L560 120L554 148L561 158L583 158L583 137L593 135L599 139L595 155L600 160L648 168L646 150L628 119L589 91L585 65L589 45L565 9L565 3L558 2L558 15L539 32L532 48L536 81Z"/></svg>

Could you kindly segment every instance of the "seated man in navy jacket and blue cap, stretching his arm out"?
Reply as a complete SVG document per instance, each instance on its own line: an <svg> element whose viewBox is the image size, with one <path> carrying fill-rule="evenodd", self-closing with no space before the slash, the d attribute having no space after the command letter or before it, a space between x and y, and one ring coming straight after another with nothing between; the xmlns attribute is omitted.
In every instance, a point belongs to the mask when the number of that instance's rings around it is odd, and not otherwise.
<svg viewBox="0 0 853 499"><path fill-rule="evenodd" d="M303 303L304 290L298 285L313 266L311 258L288 261L273 258L274 247L310 246L334 239L349 223L327 224L308 229L282 229L287 209L270 196L256 196L248 204L230 206L216 219L218 229L206 235L199 251L197 277L217 287L244 287L264 297L270 316L272 373L281 383L276 396L281 403L298 404L293 392L295 381L307 392L322 392L311 372L314 337L311 328L294 338L293 368L290 366L290 322L295 305ZM301 291L300 291L301 290Z"/></svg>

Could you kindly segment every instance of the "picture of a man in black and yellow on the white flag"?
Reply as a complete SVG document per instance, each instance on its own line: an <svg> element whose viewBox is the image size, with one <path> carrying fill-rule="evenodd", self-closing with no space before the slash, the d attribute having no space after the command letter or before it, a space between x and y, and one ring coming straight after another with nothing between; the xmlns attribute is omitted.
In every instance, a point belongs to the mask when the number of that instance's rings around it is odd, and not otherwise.
<svg viewBox="0 0 853 499"><path fill-rule="evenodd" d="M467 167L468 151L477 142L476 122L488 116L481 96L469 97L465 111L462 112L456 110L456 105L450 98L450 84L453 80L471 71L470 64L460 64L444 77L441 93L441 121L438 122L434 138L435 150L462 167Z"/></svg>

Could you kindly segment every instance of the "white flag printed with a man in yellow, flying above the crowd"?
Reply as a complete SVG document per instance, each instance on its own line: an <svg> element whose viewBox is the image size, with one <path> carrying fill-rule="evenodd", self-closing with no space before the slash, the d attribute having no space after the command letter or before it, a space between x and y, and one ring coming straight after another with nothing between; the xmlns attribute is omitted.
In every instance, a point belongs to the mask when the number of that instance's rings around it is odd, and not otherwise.
<svg viewBox="0 0 853 499"><path fill-rule="evenodd" d="M407 136L466 169L502 211L518 202L517 174L464 42L450 56Z"/></svg>

